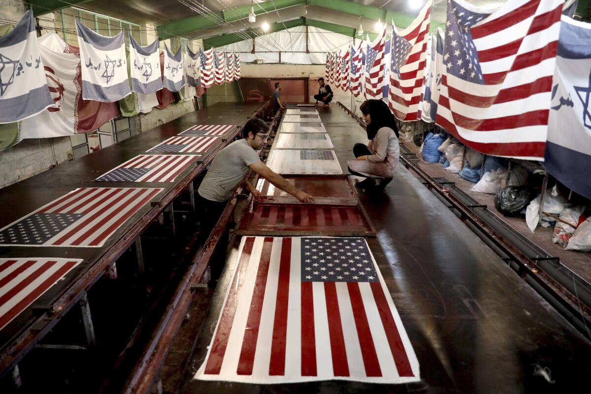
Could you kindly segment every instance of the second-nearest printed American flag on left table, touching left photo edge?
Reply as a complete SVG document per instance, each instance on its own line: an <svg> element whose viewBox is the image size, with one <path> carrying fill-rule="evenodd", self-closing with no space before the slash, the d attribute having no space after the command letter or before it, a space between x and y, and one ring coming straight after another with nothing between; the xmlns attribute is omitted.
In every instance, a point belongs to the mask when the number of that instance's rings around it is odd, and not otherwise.
<svg viewBox="0 0 591 394"><path fill-rule="evenodd" d="M82 187L0 230L0 246L102 246L161 188Z"/></svg>

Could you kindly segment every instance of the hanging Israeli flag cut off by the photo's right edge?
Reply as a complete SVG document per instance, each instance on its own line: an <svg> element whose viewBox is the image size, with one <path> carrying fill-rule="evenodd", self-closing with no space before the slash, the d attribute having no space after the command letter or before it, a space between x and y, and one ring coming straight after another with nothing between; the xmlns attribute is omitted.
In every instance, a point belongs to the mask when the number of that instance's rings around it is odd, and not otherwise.
<svg viewBox="0 0 591 394"><path fill-rule="evenodd" d="M591 198L591 25L563 15L548 116L544 167Z"/></svg>

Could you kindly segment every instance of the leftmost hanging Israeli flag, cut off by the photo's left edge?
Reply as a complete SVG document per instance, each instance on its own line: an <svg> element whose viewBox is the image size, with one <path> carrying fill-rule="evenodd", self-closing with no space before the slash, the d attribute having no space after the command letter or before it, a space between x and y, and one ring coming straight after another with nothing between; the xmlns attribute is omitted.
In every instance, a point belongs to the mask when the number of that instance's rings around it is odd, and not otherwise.
<svg viewBox="0 0 591 394"><path fill-rule="evenodd" d="M53 99L29 10L13 31L0 37L0 123L30 118L50 106Z"/></svg>

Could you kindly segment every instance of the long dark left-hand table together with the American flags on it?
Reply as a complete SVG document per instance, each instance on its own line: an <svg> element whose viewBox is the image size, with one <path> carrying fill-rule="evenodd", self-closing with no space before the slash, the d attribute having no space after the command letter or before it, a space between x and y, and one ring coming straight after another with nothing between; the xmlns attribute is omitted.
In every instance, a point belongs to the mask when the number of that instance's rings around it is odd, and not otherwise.
<svg viewBox="0 0 591 394"><path fill-rule="evenodd" d="M124 250L134 242L141 250L139 235L182 191L193 196L194 178L266 105L218 103L0 190L0 288L21 275L20 288L10 292L24 292L17 300L0 294L0 375L85 300ZM177 160L183 163L170 174L166 166ZM108 209L118 216L100 222ZM60 232L83 214L90 217L76 232ZM12 271L2 275L5 269Z"/></svg>

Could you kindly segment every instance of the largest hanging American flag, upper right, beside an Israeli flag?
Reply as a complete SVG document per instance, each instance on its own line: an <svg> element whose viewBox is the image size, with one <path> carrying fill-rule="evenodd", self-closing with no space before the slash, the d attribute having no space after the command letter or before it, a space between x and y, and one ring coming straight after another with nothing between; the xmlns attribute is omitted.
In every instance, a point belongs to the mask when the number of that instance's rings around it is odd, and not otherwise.
<svg viewBox="0 0 591 394"><path fill-rule="evenodd" d="M488 155L543 160L562 0L449 0L437 123Z"/></svg>

